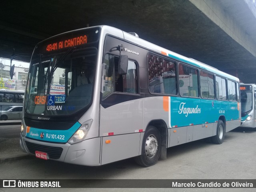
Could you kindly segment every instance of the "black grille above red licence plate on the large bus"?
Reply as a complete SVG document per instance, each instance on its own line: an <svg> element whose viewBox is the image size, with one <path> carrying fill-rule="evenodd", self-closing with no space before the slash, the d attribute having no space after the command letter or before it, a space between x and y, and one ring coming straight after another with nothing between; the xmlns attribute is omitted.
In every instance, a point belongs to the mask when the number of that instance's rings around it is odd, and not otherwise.
<svg viewBox="0 0 256 192"><path fill-rule="evenodd" d="M51 159L59 159L63 151L63 148L61 147L39 145L35 143L30 143L28 141L25 142L30 153L35 154L35 151L45 152Z"/></svg>

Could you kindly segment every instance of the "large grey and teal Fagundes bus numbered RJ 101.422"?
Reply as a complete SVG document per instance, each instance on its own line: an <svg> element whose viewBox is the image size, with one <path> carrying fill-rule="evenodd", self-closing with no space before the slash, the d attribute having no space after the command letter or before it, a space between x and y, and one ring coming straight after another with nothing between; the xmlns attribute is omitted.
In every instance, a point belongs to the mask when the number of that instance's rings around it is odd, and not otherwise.
<svg viewBox="0 0 256 192"><path fill-rule="evenodd" d="M50 94L63 80L63 93ZM100 166L166 159L167 148L240 126L239 79L142 40L94 26L36 45L20 145L37 158Z"/></svg>

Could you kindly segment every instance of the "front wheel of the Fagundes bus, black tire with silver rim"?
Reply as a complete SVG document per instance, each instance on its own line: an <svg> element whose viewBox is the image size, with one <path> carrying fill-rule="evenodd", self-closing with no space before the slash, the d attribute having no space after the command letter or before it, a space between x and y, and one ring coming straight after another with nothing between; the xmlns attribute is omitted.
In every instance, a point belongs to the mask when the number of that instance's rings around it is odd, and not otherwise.
<svg viewBox="0 0 256 192"><path fill-rule="evenodd" d="M161 137L158 129L154 126L149 126L142 141L142 152L140 156L135 157L137 164L149 167L159 159L161 151Z"/></svg>

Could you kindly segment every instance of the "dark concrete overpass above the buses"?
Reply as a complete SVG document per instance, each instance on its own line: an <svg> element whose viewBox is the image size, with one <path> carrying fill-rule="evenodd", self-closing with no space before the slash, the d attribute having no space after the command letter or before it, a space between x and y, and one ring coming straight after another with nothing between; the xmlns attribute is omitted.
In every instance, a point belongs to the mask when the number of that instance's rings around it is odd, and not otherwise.
<svg viewBox="0 0 256 192"><path fill-rule="evenodd" d="M254 0L79 0L1 3L0 57L52 35L106 24L256 83ZM15 50L15 51L14 51ZM28 61L27 58L18 58Z"/></svg>

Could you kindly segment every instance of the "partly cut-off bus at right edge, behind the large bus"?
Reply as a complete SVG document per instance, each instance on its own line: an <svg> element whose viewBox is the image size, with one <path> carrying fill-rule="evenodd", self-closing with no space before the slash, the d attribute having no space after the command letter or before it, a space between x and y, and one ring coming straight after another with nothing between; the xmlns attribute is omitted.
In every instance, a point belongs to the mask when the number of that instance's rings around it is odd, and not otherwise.
<svg viewBox="0 0 256 192"><path fill-rule="evenodd" d="M241 127L256 130L256 84L240 84Z"/></svg>

